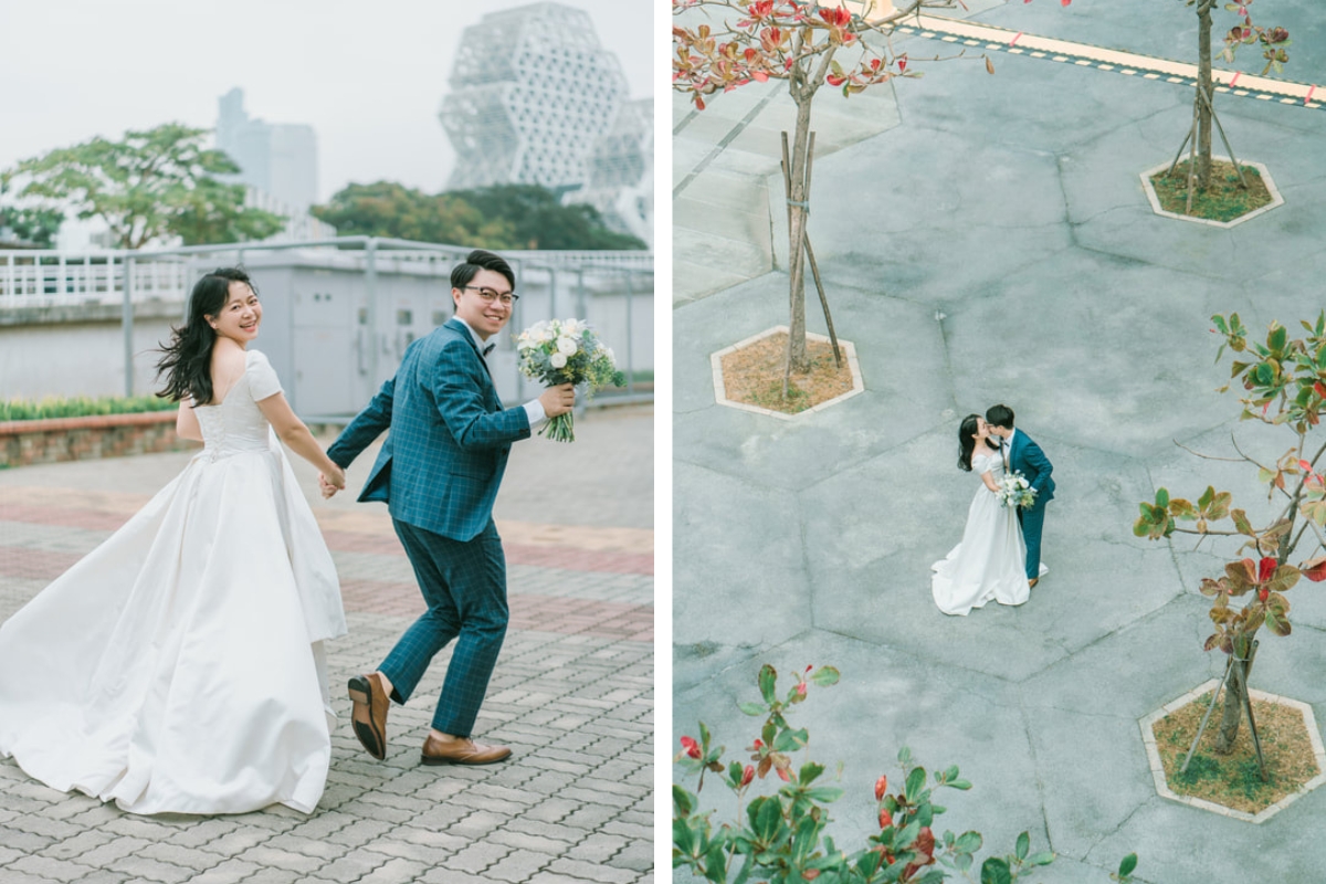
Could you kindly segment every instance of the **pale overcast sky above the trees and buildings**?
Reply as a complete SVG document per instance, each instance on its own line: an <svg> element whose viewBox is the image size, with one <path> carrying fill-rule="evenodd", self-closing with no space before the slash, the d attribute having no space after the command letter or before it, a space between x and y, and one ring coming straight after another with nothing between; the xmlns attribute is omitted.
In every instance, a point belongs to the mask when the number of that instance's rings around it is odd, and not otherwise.
<svg viewBox="0 0 1326 884"><path fill-rule="evenodd" d="M651 98L650 0L585 9ZM244 90L252 118L306 123L318 193L395 180L440 191L455 154L438 122L465 27L516 0L0 0L0 168L94 135L180 121L212 129Z"/></svg>

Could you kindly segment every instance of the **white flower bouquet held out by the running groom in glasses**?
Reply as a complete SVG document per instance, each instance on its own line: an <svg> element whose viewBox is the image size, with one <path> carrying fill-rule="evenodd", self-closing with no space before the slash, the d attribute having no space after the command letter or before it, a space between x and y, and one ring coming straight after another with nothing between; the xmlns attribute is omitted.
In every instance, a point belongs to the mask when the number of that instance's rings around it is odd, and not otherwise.
<svg viewBox="0 0 1326 884"><path fill-rule="evenodd" d="M583 319L544 319L516 335L520 372L553 387L585 384L586 395L601 387L621 387L626 375L617 358ZM572 412L550 417L538 435L553 441L575 441Z"/></svg>

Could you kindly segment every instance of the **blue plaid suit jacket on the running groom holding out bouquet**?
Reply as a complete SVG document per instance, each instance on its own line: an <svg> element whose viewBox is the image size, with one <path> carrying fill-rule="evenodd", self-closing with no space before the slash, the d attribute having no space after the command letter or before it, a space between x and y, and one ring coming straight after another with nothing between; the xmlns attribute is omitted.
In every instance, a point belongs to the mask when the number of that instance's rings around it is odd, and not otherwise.
<svg viewBox="0 0 1326 884"><path fill-rule="evenodd" d="M492 518L511 444L529 437L524 408L501 407L473 338L459 319L410 345L396 376L328 449L347 467L389 429L361 501L385 501L392 518L455 541Z"/></svg>

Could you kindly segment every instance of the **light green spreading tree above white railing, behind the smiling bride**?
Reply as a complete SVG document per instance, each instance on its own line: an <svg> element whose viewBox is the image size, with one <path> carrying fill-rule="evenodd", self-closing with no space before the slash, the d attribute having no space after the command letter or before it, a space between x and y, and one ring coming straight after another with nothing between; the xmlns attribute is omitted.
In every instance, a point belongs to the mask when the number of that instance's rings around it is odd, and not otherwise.
<svg viewBox="0 0 1326 884"><path fill-rule="evenodd" d="M203 147L207 133L164 123L127 131L118 142L97 137L25 159L4 178L21 182L17 196L41 201L45 211L69 208L80 219L102 219L123 249L166 236L194 245L280 232L285 219L245 208L243 184L213 178L240 170L221 151Z"/></svg>

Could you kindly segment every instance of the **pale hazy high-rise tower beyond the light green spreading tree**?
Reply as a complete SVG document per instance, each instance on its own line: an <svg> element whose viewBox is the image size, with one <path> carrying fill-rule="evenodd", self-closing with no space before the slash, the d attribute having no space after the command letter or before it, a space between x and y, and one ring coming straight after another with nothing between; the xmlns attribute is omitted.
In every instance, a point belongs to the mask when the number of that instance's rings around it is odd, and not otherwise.
<svg viewBox="0 0 1326 884"><path fill-rule="evenodd" d="M221 95L216 147L239 164L233 180L257 188L296 213L308 212L317 201L318 144L313 127L251 119L244 110L243 89Z"/></svg>

